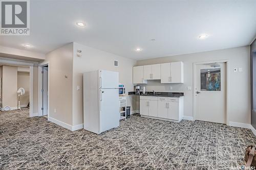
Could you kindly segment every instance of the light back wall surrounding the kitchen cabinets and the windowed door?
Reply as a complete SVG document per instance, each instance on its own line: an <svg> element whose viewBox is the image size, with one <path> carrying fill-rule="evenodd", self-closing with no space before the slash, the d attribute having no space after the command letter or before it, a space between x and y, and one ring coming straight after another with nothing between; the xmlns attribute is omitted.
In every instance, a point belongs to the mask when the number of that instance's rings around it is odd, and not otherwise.
<svg viewBox="0 0 256 170"><path fill-rule="evenodd" d="M146 90L184 92L184 115L193 116L193 63L214 60L229 61L229 122L250 124L250 46L229 48L195 54L137 61L137 65L166 62L184 62L184 84L160 84L160 81L148 81ZM243 67L243 72L233 72L233 68ZM168 90L169 86L173 90ZM138 102L137 102L138 103Z"/></svg>

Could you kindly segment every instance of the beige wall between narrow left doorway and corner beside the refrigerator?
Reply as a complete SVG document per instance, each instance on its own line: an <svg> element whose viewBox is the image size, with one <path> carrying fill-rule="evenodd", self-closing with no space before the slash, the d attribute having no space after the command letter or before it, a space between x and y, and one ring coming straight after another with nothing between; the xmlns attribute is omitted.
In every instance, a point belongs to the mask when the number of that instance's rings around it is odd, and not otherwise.
<svg viewBox="0 0 256 170"><path fill-rule="evenodd" d="M46 61L49 61L49 116L71 126L73 43L48 53Z"/></svg>

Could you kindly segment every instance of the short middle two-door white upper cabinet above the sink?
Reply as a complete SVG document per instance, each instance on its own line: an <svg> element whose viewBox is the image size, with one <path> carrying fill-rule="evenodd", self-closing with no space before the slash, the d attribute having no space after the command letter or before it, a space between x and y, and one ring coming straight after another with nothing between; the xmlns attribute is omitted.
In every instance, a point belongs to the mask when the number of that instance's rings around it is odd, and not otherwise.
<svg viewBox="0 0 256 170"><path fill-rule="evenodd" d="M161 64L144 65L144 80L160 80Z"/></svg>

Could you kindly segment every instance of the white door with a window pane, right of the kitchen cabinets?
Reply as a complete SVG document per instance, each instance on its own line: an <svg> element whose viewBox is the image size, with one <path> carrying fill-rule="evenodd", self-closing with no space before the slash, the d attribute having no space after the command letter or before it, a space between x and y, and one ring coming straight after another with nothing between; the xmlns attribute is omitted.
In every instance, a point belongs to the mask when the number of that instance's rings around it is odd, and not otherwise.
<svg viewBox="0 0 256 170"><path fill-rule="evenodd" d="M226 63L195 66L196 119L226 124Z"/></svg>

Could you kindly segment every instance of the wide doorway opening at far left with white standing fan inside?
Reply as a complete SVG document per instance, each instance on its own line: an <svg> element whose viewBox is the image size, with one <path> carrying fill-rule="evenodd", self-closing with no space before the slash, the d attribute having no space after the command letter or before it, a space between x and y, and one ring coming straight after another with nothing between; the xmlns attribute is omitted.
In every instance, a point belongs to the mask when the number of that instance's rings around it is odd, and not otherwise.
<svg viewBox="0 0 256 170"><path fill-rule="evenodd" d="M0 110L33 113L33 63L0 59ZM17 110L17 111L18 111Z"/></svg>

